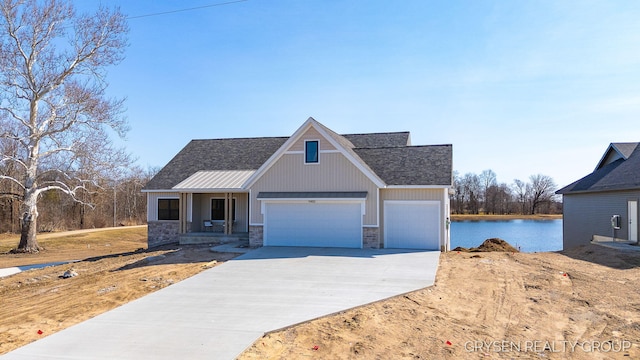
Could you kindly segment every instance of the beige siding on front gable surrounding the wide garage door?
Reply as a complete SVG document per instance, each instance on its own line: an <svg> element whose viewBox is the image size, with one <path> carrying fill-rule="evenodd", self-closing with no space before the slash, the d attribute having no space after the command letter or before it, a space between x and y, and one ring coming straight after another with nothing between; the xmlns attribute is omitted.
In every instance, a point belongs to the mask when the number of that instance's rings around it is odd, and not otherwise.
<svg viewBox="0 0 640 360"><path fill-rule="evenodd" d="M378 225L378 187L338 152L321 151L317 164L305 164L302 153L282 155L251 187L252 225L264 223L257 200L261 191L367 191L363 225Z"/></svg>

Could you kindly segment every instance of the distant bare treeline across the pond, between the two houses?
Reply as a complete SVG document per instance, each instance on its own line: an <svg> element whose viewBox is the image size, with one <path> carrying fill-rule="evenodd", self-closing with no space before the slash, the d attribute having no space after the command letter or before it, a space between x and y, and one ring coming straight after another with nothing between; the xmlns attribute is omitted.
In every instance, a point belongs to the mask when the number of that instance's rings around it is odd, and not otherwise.
<svg viewBox="0 0 640 360"><path fill-rule="evenodd" d="M557 186L547 175L529 176L529 181L498 183L496 173L460 175L454 171L454 192L450 195L454 214L560 214L562 203L554 194Z"/></svg>

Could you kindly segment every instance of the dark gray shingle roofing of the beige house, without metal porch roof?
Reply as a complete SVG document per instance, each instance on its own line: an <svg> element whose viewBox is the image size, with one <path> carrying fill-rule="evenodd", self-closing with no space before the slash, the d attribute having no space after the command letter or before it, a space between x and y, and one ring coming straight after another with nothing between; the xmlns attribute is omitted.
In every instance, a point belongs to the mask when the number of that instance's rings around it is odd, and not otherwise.
<svg viewBox="0 0 640 360"><path fill-rule="evenodd" d="M407 146L409 132L339 135L318 123L388 185L451 185L451 145ZM257 170L289 137L192 140L145 186L169 190L198 171Z"/></svg>

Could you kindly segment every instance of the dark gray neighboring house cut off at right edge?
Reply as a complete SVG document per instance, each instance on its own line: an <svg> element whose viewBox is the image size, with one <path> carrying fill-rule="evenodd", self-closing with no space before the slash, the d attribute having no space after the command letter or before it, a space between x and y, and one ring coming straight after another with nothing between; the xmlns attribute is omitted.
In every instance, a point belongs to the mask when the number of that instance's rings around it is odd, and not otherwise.
<svg viewBox="0 0 640 360"><path fill-rule="evenodd" d="M638 144L611 143L591 174L556 191L563 196L565 249L603 238L638 241Z"/></svg>

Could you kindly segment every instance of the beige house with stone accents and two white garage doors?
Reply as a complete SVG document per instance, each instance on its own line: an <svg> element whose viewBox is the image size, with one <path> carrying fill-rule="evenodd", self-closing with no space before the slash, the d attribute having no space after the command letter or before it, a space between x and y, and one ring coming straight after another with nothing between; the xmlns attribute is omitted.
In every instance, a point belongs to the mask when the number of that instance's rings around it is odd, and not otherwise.
<svg viewBox="0 0 640 360"><path fill-rule="evenodd" d="M452 146L409 132L193 140L145 186L149 247L189 236L257 246L449 249Z"/></svg>

